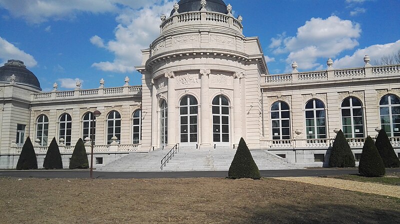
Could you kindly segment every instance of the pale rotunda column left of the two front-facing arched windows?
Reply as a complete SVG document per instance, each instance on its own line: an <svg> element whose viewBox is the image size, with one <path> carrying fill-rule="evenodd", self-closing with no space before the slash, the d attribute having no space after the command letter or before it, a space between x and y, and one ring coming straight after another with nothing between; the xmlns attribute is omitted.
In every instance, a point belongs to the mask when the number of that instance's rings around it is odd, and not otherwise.
<svg viewBox="0 0 400 224"><path fill-rule="evenodd" d="M169 150L171 149L177 142L176 142L176 112L175 112L175 74L171 72L165 73L165 77L168 78L168 140L166 148Z"/></svg>

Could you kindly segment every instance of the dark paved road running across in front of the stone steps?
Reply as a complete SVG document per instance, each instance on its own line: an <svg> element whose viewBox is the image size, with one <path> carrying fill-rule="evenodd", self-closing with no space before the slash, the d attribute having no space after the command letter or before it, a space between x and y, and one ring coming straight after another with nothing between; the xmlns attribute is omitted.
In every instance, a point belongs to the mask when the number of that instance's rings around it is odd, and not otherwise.
<svg viewBox="0 0 400 224"><path fill-rule="evenodd" d="M386 169L387 172L400 172L400 169ZM343 174L357 174L352 169L299 169L299 170L265 170L260 171L262 177L319 177ZM151 179L151 178L196 178L196 177L227 177L227 171L197 171L197 172L93 172L94 178L103 179ZM10 171L0 170L0 177L17 178L89 178L89 170L33 170Z"/></svg>

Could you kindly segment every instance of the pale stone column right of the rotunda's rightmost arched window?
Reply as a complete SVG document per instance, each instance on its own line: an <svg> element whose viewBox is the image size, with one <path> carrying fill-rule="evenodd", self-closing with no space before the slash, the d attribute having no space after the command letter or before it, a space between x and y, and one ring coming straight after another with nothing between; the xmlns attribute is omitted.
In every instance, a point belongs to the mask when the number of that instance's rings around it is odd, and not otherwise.
<svg viewBox="0 0 400 224"><path fill-rule="evenodd" d="M241 137L241 106L240 106L240 79L243 77L242 72L233 74L233 139L232 143L236 146L239 144Z"/></svg>

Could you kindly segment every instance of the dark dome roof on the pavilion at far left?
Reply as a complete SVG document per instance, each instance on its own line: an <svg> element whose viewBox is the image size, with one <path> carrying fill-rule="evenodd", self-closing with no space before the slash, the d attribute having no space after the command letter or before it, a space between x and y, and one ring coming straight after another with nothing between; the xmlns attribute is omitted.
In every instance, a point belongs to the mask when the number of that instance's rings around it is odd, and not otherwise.
<svg viewBox="0 0 400 224"><path fill-rule="evenodd" d="M23 65L23 61L20 60L8 60L4 66L0 67L0 83L11 82L11 76L15 75L15 83L28 85L38 90L41 90L39 80L36 76L26 69Z"/></svg>

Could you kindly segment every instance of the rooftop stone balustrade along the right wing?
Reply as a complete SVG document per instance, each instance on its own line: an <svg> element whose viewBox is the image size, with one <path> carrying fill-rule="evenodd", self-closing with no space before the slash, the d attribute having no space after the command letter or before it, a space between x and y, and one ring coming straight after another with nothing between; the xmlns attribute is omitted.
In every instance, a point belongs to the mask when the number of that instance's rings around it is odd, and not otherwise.
<svg viewBox="0 0 400 224"><path fill-rule="evenodd" d="M314 80L341 80L362 77L376 77L376 75L399 75L400 64L384 65L384 66L369 66L362 68L350 69L328 69L325 71L312 72L297 72L293 71L288 74L266 75L265 83L298 83Z"/></svg>

